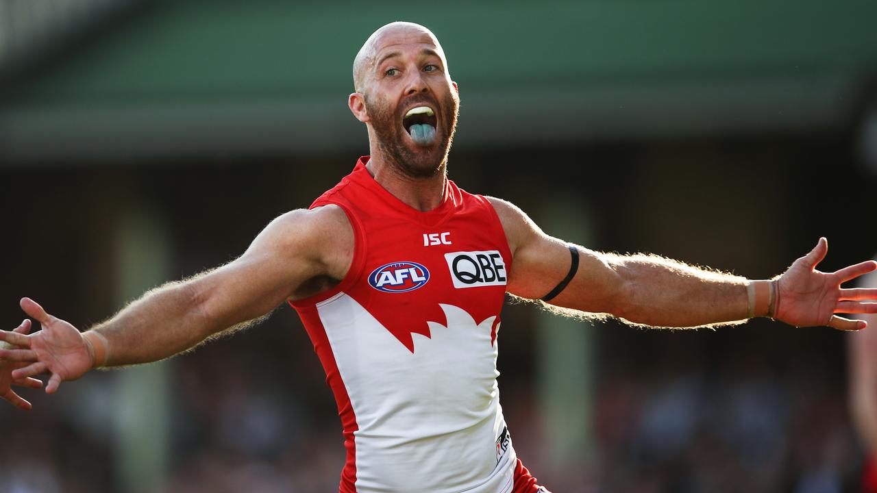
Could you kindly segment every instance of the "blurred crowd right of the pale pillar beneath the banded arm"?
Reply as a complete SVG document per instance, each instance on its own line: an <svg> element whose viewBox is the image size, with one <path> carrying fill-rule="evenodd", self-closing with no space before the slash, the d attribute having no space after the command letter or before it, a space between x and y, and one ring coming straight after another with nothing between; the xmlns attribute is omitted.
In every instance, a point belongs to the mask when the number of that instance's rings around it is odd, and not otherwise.
<svg viewBox="0 0 877 493"><path fill-rule="evenodd" d="M597 397L601 491L834 493L857 481L844 394L812 371L646 380L619 376Z"/></svg>

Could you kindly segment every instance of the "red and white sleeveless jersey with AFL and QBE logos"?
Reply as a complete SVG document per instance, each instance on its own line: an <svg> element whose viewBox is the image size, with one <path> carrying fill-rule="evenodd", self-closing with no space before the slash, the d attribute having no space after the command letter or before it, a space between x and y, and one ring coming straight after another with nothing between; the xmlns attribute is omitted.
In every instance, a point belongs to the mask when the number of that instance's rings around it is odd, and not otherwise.
<svg viewBox="0 0 877 493"><path fill-rule="evenodd" d="M311 205L346 212L350 271L292 303L344 426L340 491L511 491L517 457L496 385L503 226L486 198L451 181L438 208L412 209L367 161Z"/></svg>

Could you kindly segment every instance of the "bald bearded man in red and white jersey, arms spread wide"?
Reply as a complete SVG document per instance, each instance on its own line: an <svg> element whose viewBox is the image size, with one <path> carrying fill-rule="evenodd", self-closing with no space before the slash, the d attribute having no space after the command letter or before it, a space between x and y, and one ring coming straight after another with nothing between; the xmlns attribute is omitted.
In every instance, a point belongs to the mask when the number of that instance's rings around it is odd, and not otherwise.
<svg viewBox="0 0 877 493"><path fill-rule="evenodd" d="M827 242L774 281L748 281L648 255L553 239L524 212L446 179L458 88L438 39L393 23L353 63L350 110L371 156L308 211L276 218L239 259L155 289L80 333L24 298L0 339L10 385L46 392L91 368L145 363L194 347L289 301L303 319L344 425L341 491L545 491L517 459L496 387L506 292L608 313L631 324L702 326L756 316L857 330L836 312L875 311L877 289L840 289L877 268L815 270ZM21 367L21 368L17 368ZM12 370L12 368L15 368Z"/></svg>

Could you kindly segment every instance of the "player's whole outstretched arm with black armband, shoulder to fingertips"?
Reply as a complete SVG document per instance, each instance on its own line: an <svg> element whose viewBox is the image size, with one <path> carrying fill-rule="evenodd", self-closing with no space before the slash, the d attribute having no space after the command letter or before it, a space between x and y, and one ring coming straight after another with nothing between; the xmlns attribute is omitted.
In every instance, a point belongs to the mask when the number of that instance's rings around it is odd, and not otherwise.
<svg viewBox="0 0 877 493"><path fill-rule="evenodd" d="M514 205L496 198L490 201L503 223L514 259L509 292L529 299L544 297L569 271L567 244L546 235ZM660 327L728 324L751 317L747 286L752 282L744 277L654 255L604 254L584 247L576 250L579 268L551 304ZM827 251L827 241L820 239L813 251L796 260L775 280L773 312L756 315L771 315L790 325L863 328L864 321L834 314L877 312L877 304L866 302L877 299L877 289L841 289L840 284L873 271L877 262L861 262L834 273L819 272L816 264Z"/></svg>

